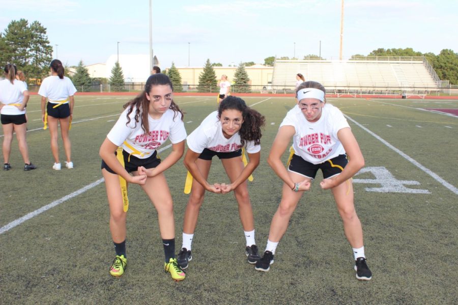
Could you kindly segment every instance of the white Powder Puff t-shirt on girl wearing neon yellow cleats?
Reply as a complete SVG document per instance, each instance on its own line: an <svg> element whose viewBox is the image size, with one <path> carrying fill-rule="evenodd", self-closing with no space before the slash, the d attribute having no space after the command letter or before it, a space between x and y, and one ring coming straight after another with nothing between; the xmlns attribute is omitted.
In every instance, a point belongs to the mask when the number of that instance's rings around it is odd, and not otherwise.
<svg viewBox="0 0 458 305"><path fill-rule="evenodd" d="M122 146L127 153L132 154L134 151L124 143L126 141L142 155L134 154L139 159L146 159L154 153L167 139L172 144L179 143L186 139L186 130L182 121L182 114L176 113L171 109L162 114L159 119L153 119L148 116L150 130L147 134L141 129L141 123L135 122L135 109L129 114L130 122L127 124L127 111L125 109L115 126L106 136L113 144ZM174 118L174 115L175 118ZM136 126L135 126L136 125Z"/></svg>

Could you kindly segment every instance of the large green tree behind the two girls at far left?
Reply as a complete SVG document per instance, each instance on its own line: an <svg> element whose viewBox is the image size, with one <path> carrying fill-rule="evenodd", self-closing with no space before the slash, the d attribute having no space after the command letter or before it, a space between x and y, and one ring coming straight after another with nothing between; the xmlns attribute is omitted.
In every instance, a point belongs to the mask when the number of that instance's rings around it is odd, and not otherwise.
<svg viewBox="0 0 458 305"><path fill-rule="evenodd" d="M52 47L46 28L40 22L34 21L29 25L25 19L13 20L0 41L2 64L16 64L27 78L42 78L48 74Z"/></svg>

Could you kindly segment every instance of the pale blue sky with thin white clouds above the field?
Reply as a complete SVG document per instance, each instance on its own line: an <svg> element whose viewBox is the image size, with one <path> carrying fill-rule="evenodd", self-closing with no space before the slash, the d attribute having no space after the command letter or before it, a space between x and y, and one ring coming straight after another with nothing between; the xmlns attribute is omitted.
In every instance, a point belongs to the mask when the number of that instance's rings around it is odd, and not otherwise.
<svg viewBox="0 0 458 305"><path fill-rule="evenodd" d="M161 68L264 63L276 55L338 59L340 0L152 1L153 50ZM342 55L378 48L458 52L457 0L345 0ZM148 0L0 0L0 31L39 21L67 65L149 53ZM56 47L57 45L57 47ZM189 53L188 53L189 52ZM53 52L55 57L55 50ZM148 63L149 65L149 63Z"/></svg>

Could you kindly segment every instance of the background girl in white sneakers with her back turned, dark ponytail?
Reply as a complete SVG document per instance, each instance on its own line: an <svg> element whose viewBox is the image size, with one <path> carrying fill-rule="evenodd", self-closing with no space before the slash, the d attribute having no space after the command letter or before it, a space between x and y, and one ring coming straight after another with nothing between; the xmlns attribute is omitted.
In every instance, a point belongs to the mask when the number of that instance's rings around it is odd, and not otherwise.
<svg viewBox="0 0 458 305"><path fill-rule="evenodd" d="M64 67L59 59L52 60L50 69L51 76L43 79L38 94L41 95L41 119L44 123L44 129L49 125L49 133L51 134L51 152L54 158L52 168L61 169L58 146L59 123L65 156L67 157L65 167L73 168L71 142L68 133L73 118L73 105L75 103L73 96L76 93L76 88L70 78L64 76Z"/></svg>

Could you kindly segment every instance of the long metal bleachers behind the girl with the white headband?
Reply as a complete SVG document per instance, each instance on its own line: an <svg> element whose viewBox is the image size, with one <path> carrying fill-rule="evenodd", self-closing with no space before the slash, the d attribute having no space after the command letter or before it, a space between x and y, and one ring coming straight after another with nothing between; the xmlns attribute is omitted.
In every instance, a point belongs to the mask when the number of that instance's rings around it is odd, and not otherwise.
<svg viewBox="0 0 458 305"><path fill-rule="evenodd" d="M327 92L409 93L420 95L440 90L440 80L421 57L362 57L351 60L277 59L272 75L272 88L295 88L296 74L306 80L322 83ZM432 72L430 72L432 71Z"/></svg>

